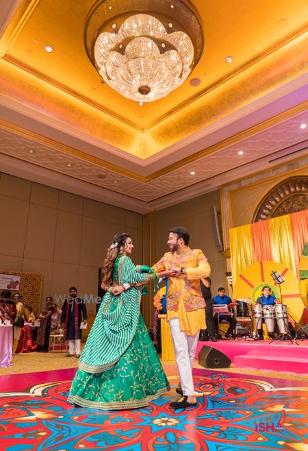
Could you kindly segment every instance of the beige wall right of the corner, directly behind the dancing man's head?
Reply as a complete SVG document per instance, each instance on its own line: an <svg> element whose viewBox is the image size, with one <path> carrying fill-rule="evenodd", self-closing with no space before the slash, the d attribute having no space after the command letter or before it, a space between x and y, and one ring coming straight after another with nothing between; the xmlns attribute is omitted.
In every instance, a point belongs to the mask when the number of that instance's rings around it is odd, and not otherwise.
<svg viewBox="0 0 308 451"><path fill-rule="evenodd" d="M218 252L214 243L214 235L211 228L211 207L217 206L220 210L219 191L212 191L200 197L182 202L175 206L157 211L157 254L156 258L168 252L166 245L168 229L176 226L184 226L190 232L190 247L203 249L205 256L211 265L211 289L216 295L218 287L226 287L227 281L224 274L224 256Z"/></svg>

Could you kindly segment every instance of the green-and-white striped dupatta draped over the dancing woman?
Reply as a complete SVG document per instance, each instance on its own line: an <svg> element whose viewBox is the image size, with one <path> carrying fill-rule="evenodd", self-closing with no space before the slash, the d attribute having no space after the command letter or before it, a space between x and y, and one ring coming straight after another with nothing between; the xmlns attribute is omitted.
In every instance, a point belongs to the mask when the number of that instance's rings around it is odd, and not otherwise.
<svg viewBox="0 0 308 451"><path fill-rule="evenodd" d="M118 280L125 282L148 282L148 273L138 273L140 267L133 265L127 256L118 263ZM138 325L142 287L123 291L120 296L106 293L79 358L79 368L88 373L101 373L110 369L129 347Z"/></svg>

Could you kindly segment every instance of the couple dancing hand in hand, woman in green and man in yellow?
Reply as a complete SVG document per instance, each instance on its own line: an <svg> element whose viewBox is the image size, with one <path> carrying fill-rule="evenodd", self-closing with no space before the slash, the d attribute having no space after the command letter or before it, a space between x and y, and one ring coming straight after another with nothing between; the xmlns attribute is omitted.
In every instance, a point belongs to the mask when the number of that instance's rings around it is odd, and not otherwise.
<svg viewBox="0 0 308 451"><path fill-rule="evenodd" d="M136 409L170 389L140 314L144 285L168 277L167 314L181 379L177 391L183 394L170 408L197 405L192 363L199 330L205 328L205 302L199 293L199 279L209 276L209 265L200 249L188 247L187 230L172 230L168 239L170 252L153 269L133 265L129 234L114 236L102 270L102 287L107 293L79 358L68 396L73 404L101 410Z"/></svg>

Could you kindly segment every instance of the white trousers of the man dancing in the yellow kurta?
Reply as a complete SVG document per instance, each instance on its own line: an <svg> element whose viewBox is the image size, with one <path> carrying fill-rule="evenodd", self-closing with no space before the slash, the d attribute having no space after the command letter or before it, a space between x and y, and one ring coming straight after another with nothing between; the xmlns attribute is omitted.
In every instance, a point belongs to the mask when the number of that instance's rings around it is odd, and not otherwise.
<svg viewBox="0 0 308 451"><path fill-rule="evenodd" d="M198 343L199 331L195 335L187 335L180 328L179 318L169 321L173 346L175 348L175 361L179 371L183 395L194 395L194 382L192 380L192 367Z"/></svg>

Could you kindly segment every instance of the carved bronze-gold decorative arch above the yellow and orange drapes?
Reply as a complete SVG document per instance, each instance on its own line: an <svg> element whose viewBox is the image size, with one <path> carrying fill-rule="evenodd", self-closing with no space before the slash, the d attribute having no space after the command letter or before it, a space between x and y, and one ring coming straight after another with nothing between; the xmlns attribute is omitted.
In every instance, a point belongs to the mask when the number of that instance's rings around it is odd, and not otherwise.
<svg viewBox="0 0 308 451"><path fill-rule="evenodd" d="M307 209L308 177L290 177L274 186L261 200L253 215L253 222Z"/></svg>

